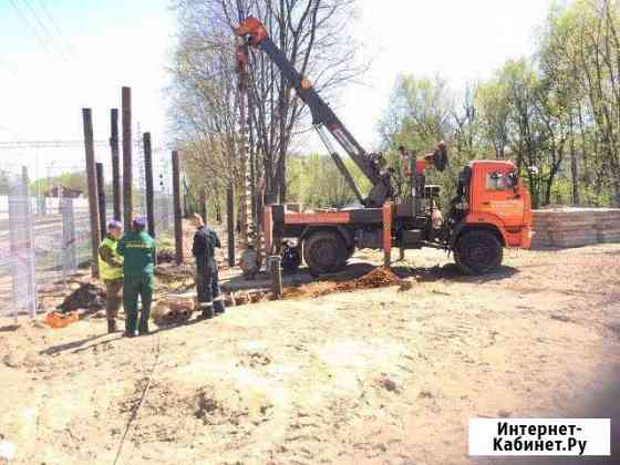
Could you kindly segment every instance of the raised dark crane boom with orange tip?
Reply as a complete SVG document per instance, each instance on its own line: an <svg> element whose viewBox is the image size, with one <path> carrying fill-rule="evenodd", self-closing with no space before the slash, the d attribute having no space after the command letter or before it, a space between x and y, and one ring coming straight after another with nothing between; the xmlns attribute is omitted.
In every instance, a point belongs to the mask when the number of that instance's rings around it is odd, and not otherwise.
<svg viewBox="0 0 620 465"><path fill-rule="evenodd" d="M338 154L330 151L330 155L337 162L338 168L342 172L344 178L351 185L355 195L368 207L379 207L383 203L393 197L393 189L390 184L390 174L382 172L382 156L380 154L369 154L358 143L355 137L342 124L340 118L333 113L330 106L321 99L318 92L312 87L310 81L299 73L293 64L288 60L286 54L273 43L267 34L267 30L260 21L254 17L248 17L236 28L235 32L248 40L248 43L265 52L278 66L285 79L291 85L297 95L308 105L312 115L312 124L321 134L321 128L326 127L330 134L338 141L340 146L347 152L364 176L371 182L372 188L366 198L361 198L358 188L351 177L351 174L340 161L338 163ZM326 138L321 134L321 138ZM328 145L328 149L329 149Z"/></svg>

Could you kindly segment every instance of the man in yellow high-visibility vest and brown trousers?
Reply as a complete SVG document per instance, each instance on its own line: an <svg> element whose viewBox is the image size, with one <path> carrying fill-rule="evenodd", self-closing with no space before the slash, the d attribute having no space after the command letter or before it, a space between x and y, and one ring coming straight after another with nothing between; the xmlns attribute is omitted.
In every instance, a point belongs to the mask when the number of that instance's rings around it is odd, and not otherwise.
<svg viewBox="0 0 620 465"><path fill-rule="evenodd" d="M116 250L118 238L123 231L121 221L112 220L107 224L107 235L99 246L99 273L105 285L105 317L107 332L116 332L116 317L121 308L123 289L123 257Z"/></svg>

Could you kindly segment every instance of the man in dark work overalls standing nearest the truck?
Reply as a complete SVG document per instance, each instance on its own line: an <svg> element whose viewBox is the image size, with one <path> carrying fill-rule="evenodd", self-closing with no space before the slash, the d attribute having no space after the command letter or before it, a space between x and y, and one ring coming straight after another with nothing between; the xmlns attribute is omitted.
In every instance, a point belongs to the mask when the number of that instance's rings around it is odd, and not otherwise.
<svg viewBox="0 0 620 465"><path fill-rule="evenodd" d="M196 259L196 291L198 309L202 311L199 318L208 319L225 311L215 259L215 249L221 247L221 242L200 215L194 215L194 225L196 232L192 254Z"/></svg>

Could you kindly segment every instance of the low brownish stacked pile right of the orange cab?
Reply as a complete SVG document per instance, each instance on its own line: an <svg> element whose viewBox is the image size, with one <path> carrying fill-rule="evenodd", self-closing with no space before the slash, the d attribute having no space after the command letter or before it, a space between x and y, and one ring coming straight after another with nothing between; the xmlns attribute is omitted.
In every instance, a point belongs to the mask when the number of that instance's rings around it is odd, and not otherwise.
<svg viewBox="0 0 620 465"><path fill-rule="evenodd" d="M620 242L620 209L534 210L533 229L535 247L580 247L599 242Z"/></svg>

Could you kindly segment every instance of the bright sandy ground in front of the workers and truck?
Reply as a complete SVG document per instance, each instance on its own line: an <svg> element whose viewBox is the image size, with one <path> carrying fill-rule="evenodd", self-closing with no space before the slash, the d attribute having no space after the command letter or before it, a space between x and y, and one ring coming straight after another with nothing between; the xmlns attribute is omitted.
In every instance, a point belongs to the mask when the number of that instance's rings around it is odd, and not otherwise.
<svg viewBox="0 0 620 465"><path fill-rule="evenodd" d="M484 278L407 254L406 291L247 304L133 340L101 319L1 320L0 440L12 463L112 464L151 380L120 464L500 464L468 457L468 418L590 416L607 399L620 245L507 251Z"/></svg>

